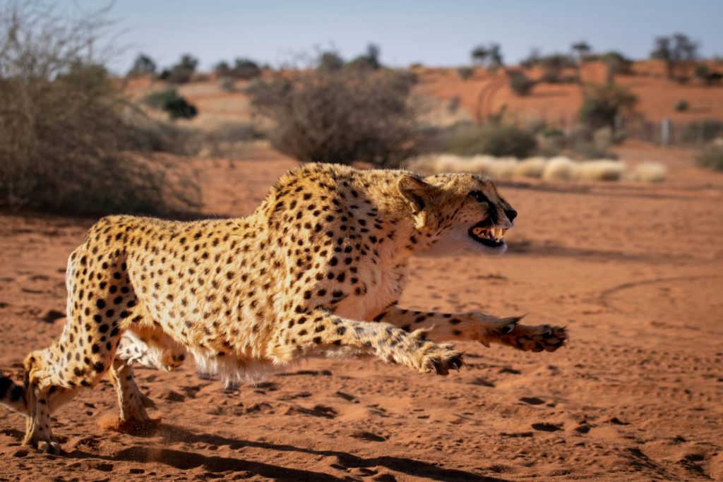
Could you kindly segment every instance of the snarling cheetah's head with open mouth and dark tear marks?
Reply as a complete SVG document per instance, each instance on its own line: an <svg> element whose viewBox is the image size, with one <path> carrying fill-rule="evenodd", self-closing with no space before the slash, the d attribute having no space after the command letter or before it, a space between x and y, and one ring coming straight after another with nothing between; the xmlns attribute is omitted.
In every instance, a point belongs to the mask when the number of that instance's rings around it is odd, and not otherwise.
<svg viewBox="0 0 723 482"><path fill-rule="evenodd" d="M411 206L416 228L431 234L420 247L424 254L450 254L464 248L487 254L507 250L505 233L513 227L517 211L500 197L487 176L403 176L398 187Z"/></svg>

